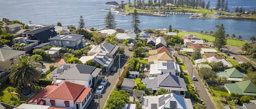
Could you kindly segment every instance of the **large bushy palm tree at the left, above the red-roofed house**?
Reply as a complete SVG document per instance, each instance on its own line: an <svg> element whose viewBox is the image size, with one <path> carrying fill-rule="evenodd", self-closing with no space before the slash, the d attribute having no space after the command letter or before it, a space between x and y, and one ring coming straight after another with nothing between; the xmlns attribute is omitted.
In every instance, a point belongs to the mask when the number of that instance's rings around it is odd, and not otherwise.
<svg viewBox="0 0 256 109"><path fill-rule="evenodd" d="M20 57L19 61L10 67L10 82L15 86L30 86L33 82L39 80L39 66L40 63L34 61L31 57Z"/></svg>

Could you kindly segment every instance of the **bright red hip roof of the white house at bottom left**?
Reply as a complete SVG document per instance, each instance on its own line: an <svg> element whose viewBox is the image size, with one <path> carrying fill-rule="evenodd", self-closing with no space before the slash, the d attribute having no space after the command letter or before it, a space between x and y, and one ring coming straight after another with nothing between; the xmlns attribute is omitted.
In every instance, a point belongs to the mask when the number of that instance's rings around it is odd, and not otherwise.
<svg viewBox="0 0 256 109"><path fill-rule="evenodd" d="M85 86L74 84L72 82L63 82L45 98L75 100L84 87Z"/></svg>

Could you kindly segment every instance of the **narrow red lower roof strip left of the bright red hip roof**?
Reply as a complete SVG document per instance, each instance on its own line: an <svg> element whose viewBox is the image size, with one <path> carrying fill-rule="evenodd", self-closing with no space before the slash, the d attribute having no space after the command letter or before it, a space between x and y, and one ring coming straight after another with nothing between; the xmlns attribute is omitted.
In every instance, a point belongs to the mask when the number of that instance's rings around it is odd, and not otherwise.
<svg viewBox="0 0 256 109"><path fill-rule="evenodd" d="M40 91L35 97L28 101L28 103L38 102L40 98L45 98L49 93L53 91L57 86L48 85L42 91Z"/></svg>

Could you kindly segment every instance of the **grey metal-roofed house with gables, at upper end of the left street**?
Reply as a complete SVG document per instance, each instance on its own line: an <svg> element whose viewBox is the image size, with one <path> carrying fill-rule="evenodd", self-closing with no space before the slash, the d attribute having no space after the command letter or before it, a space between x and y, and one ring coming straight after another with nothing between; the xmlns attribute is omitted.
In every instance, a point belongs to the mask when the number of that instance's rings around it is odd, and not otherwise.
<svg viewBox="0 0 256 109"><path fill-rule="evenodd" d="M109 57L112 57L113 59L116 58L116 55L118 53L118 46L115 46L114 44L110 43L101 43L95 47L93 47L88 53L88 56L92 56L96 53L106 53Z"/></svg>

